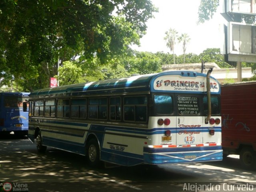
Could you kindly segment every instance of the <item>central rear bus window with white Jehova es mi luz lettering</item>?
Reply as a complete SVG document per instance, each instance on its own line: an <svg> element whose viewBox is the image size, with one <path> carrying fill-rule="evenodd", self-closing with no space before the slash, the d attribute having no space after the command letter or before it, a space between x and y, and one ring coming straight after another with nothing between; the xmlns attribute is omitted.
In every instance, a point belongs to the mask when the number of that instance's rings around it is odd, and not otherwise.
<svg viewBox="0 0 256 192"><path fill-rule="evenodd" d="M197 115L199 111L199 99L196 96L178 96L178 112L180 115Z"/></svg>

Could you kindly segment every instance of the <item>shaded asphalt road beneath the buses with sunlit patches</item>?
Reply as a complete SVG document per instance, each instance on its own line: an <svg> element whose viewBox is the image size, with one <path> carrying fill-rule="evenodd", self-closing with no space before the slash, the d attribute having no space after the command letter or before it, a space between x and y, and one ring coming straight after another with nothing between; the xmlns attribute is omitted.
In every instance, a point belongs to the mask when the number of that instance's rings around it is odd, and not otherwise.
<svg viewBox="0 0 256 192"><path fill-rule="evenodd" d="M14 135L0 136L0 181L11 191L171 192L255 191L256 172L240 168L236 156L221 162L91 168L84 156L48 148ZM108 165L110 166L110 165ZM203 188L208 187L208 188Z"/></svg>

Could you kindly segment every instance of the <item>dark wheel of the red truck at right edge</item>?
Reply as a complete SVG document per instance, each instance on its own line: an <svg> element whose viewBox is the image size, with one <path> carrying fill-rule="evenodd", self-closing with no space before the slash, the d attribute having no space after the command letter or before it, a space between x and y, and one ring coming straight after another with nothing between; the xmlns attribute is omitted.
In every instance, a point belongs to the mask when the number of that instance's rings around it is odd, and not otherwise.
<svg viewBox="0 0 256 192"><path fill-rule="evenodd" d="M239 160L244 169L252 170L256 168L256 152L250 147L242 148Z"/></svg>

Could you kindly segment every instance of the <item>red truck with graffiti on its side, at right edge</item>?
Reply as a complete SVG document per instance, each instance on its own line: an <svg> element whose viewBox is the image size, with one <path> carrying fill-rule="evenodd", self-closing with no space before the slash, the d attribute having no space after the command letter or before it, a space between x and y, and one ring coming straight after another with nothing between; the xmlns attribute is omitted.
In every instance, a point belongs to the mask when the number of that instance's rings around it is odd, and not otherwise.
<svg viewBox="0 0 256 192"><path fill-rule="evenodd" d="M221 87L223 155L239 154L245 169L256 168L256 81Z"/></svg>

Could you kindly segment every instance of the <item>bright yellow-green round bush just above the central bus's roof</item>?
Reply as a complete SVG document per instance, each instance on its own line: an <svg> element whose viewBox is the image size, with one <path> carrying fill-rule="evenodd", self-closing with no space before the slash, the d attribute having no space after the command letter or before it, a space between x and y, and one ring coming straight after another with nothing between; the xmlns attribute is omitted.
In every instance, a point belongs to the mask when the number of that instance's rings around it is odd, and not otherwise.
<svg viewBox="0 0 256 192"><path fill-rule="evenodd" d="M63 66L59 68L58 78L59 85L69 85L79 82L79 79L82 76L82 69L78 67L74 62L65 61Z"/></svg>

